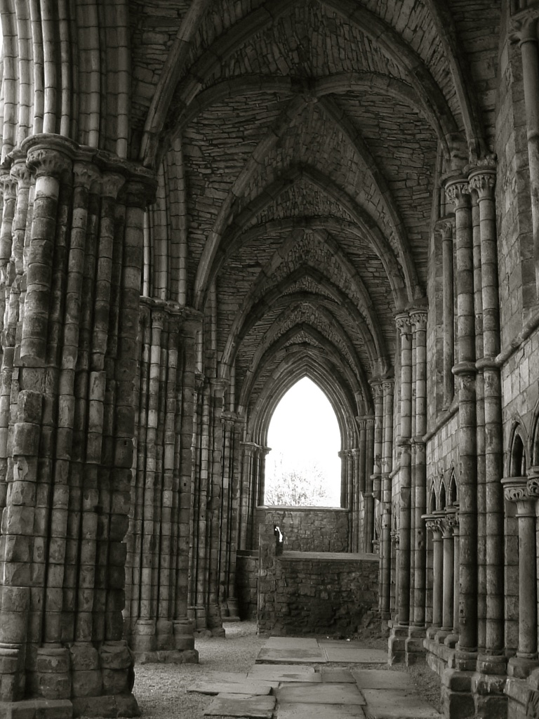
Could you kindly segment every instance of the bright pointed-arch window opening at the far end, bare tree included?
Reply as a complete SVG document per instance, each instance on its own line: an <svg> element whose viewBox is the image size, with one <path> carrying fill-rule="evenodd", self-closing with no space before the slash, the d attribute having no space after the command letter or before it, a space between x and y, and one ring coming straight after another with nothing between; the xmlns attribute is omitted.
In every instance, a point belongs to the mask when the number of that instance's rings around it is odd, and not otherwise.
<svg viewBox="0 0 539 719"><path fill-rule="evenodd" d="M280 400L267 444L266 505L341 506L341 433L331 403L312 380L304 377Z"/></svg>

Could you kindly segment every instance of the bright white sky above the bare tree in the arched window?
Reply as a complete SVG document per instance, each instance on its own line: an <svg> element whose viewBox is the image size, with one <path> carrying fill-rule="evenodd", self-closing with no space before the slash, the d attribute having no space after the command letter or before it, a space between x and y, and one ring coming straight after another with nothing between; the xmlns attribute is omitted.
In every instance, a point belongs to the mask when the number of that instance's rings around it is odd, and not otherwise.
<svg viewBox="0 0 539 719"><path fill-rule="evenodd" d="M282 470L302 470L316 465L328 481L328 506L341 505L341 433L328 398L308 377L296 383L275 409L267 444L266 481L271 482L275 462Z"/></svg>

